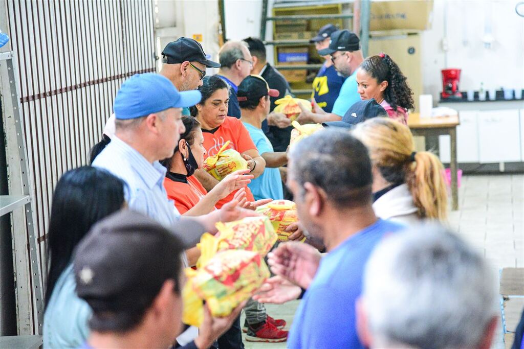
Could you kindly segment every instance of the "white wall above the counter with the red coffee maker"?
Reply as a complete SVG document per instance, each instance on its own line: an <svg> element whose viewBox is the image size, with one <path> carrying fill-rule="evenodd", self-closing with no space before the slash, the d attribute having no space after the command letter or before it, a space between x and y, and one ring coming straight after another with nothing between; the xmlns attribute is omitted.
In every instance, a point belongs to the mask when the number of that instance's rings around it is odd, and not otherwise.
<svg viewBox="0 0 524 349"><path fill-rule="evenodd" d="M440 70L462 69L460 89L524 87L524 18L516 0L435 0L432 29L422 33L424 93L438 100ZM494 42L482 41L491 23ZM444 46L443 46L444 43ZM445 50L447 46L447 50Z"/></svg>

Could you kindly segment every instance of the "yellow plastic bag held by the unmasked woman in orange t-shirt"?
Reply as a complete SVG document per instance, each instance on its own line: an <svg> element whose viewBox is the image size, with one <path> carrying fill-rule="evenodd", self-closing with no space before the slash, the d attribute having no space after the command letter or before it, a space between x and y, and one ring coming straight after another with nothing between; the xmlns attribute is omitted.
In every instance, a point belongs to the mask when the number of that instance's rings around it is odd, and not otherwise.
<svg viewBox="0 0 524 349"><path fill-rule="evenodd" d="M239 152L234 149L226 150L229 144L230 141L225 142L216 155L209 156L204 161L204 170L219 181L230 173L247 168L247 161Z"/></svg>

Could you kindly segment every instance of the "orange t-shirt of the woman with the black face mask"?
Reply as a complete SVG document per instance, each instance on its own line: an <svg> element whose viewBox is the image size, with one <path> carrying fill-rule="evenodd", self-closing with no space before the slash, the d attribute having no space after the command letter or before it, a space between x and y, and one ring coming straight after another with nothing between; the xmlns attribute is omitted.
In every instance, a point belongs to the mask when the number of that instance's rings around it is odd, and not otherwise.
<svg viewBox="0 0 524 349"><path fill-rule="evenodd" d="M195 176L187 177L187 181L188 183L183 183L165 177L163 182L167 197L174 200L174 206L181 215L192 209L204 195L208 194Z"/></svg>

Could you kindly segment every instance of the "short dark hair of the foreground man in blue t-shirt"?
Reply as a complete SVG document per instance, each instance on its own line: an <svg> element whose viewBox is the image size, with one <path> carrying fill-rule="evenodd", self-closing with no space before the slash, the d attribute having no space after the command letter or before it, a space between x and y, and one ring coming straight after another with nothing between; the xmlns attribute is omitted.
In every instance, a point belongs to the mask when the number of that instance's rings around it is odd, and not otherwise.
<svg viewBox="0 0 524 349"><path fill-rule="evenodd" d="M291 177L321 188L341 210L371 202L371 161L366 147L347 131L324 129L294 144Z"/></svg>

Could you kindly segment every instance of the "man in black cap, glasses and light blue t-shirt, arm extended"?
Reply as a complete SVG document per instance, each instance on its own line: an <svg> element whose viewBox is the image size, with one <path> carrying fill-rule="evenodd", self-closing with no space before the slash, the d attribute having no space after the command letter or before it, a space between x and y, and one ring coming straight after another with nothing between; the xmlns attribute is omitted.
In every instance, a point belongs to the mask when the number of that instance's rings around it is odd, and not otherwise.
<svg viewBox="0 0 524 349"><path fill-rule="evenodd" d="M356 70L364 61L364 57L360 50L360 40L355 33L345 29L334 31L331 33L329 47L320 50L319 54L331 55L336 71L347 78L342 84L331 113L316 106L312 112L302 108L297 118L300 123L341 120L347 109L361 99L357 93Z"/></svg>

